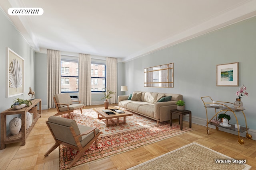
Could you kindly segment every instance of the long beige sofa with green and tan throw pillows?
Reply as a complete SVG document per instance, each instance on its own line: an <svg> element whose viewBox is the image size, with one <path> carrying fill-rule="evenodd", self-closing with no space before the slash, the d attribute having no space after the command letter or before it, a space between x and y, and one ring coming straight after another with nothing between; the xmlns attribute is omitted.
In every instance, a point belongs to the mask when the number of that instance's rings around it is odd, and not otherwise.
<svg viewBox="0 0 256 170"><path fill-rule="evenodd" d="M183 96L181 94L139 91L133 92L132 95L130 94L130 100L128 100L128 98L129 95L118 96L118 106L124 107L158 122L170 120L170 110L177 109L176 102L178 100L183 100ZM178 117L174 117L173 119L176 118Z"/></svg>

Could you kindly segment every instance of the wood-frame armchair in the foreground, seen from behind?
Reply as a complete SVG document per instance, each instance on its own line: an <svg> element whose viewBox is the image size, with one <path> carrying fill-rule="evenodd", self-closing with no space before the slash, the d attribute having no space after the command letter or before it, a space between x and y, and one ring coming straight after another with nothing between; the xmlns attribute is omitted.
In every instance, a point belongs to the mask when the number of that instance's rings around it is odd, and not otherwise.
<svg viewBox="0 0 256 170"><path fill-rule="evenodd" d="M60 144L79 151L76 157L70 162L69 168L78 161L92 143L95 142L96 147L98 147L97 138L101 132L96 127L78 125L75 120L56 116L50 116L48 121L46 121L46 125L52 133L55 144L44 156L48 156Z"/></svg>

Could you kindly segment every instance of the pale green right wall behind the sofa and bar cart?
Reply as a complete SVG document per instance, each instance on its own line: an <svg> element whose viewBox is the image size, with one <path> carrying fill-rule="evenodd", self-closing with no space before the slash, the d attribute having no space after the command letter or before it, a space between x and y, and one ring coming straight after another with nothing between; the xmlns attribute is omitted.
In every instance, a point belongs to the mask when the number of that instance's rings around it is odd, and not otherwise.
<svg viewBox="0 0 256 170"><path fill-rule="evenodd" d="M192 110L194 117L206 119L201 96L236 100L238 87L216 86L216 65L234 62L239 62L239 86L244 84L248 89L249 97L242 98L247 123L256 129L256 17L126 62L125 84L129 93L140 90L182 94L186 109ZM143 68L167 63L174 63L174 88L144 87Z"/></svg>

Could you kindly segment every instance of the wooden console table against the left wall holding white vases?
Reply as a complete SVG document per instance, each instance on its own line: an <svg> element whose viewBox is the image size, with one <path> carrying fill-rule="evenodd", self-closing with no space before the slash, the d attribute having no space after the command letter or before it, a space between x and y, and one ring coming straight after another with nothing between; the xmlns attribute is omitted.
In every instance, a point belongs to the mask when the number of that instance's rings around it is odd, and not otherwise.
<svg viewBox="0 0 256 170"><path fill-rule="evenodd" d="M42 113L42 100L41 99L34 99L31 100L32 104L30 106L26 106L22 109L14 109L10 108L7 109L3 112L1 112L1 150L6 148L6 144L9 143L16 143L21 141L21 145L26 144L26 137L28 136L29 132L31 129L34 127L36 121L41 117ZM29 111L32 107L34 107L36 104L39 103L39 113L37 117L34 117L34 121L32 125L26 129L26 120L25 120L25 115L26 112ZM6 115L16 115L16 114L21 114L21 132L19 132L17 135L10 135L6 136Z"/></svg>

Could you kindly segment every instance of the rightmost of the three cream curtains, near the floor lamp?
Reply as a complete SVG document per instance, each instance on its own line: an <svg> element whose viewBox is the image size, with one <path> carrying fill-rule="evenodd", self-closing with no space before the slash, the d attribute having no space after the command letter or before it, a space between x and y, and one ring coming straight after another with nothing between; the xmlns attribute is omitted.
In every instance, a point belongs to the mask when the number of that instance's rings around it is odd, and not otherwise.
<svg viewBox="0 0 256 170"><path fill-rule="evenodd" d="M106 57L106 89L115 92L109 103L117 103L117 59Z"/></svg>

